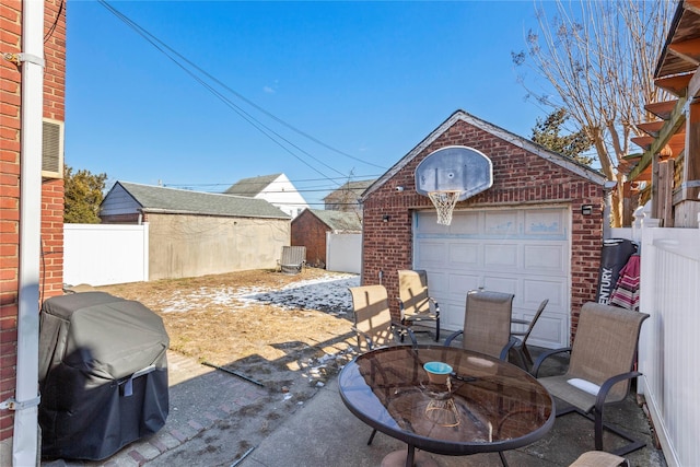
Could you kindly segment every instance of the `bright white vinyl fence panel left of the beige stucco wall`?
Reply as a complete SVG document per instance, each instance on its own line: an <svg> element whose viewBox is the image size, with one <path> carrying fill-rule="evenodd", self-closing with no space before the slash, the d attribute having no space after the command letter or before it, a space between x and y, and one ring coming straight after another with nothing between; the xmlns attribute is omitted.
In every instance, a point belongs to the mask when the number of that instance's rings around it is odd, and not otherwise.
<svg viewBox="0 0 700 467"><path fill-rule="evenodd" d="M149 280L149 225L63 224L63 282Z"/></svg>

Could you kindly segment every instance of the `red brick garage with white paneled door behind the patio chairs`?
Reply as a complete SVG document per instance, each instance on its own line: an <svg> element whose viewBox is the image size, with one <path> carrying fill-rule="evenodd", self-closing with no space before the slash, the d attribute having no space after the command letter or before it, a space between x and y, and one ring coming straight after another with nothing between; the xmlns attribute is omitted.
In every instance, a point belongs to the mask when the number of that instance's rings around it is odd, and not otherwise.
<svg viewBox="0 0 700 467"><path fill-rule="evenodd" d="M488 157L493 183L458 202L446 226L416 191L415 172L452 145ZM604 182L570 157L455 112L364 192L362 282L382 281L397 296L398 269L425 269L446 329L462 327L467 291L479 287L514 293L518 318L549 299L532 341L569 345L581 306L596 294Z"/></svg>

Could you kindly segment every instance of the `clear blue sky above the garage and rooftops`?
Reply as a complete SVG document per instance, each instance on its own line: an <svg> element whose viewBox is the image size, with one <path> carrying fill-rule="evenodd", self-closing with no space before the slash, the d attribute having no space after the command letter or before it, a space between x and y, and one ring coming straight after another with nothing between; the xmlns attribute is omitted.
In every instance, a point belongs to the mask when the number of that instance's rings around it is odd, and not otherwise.
<svg viewBox="0 0 700 467"><path fill-rule="evenodd" d="M108 186L220 192L281 172L317 203L457 109L523 137L545 116L511 61L536 26L532 1L109 4L225 87L97 1L69 1L66 163Z"/></svg>

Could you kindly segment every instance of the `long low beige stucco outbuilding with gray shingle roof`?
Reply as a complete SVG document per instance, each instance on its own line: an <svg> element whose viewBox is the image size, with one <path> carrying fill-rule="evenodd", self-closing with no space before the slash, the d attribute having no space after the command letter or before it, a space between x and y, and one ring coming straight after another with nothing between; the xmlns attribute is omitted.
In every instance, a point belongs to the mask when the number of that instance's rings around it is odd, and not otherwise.
<svg viewBox="0 0 700 467"><path fill-rule="evenodd" d="M264 199L117 182L103 223L149 223L149 279L277 267L290 218Z"/></svg>

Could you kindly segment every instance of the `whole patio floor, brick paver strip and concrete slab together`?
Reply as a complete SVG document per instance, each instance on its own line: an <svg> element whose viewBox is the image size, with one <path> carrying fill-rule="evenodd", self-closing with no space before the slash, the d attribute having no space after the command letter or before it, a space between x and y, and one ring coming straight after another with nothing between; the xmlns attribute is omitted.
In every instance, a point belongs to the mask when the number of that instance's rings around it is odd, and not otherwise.
<svg viewBox="0 0 700 467"><path fill-rule="evenodd" d="M420 340L430 342L425 337ZM534 357L541 351L530 350ZM234 404L252 405L265 397L267 389L175 353L170 354L168 360L171 407L177 407L177 411L172 412L159 433L126 446L103 462L58 459L45 462L43 467L376 467L388 453L406 448L404 443L383 433L377 433L368 446L372 430L345 407L338 393L338 378L334 376L257 444L242 450L241 440L231 436L228 427L245 420L225 408ZM561 371L562 363L555 359L544 370L546 373ZM630 394L617 407L609 407L606 421L646 441L644 448L627 456L630 465L666 467L663 453L654 447L649 421L634 395ZM617 446L619 442L619 439L606 437L605 447ZM504 454L511 466L553 467L569 466L593 448L593 424L569 415L557 419L553 429L541 440ZM428 455L443 467L501 466L498 454Z"/></svg>

